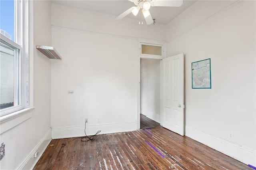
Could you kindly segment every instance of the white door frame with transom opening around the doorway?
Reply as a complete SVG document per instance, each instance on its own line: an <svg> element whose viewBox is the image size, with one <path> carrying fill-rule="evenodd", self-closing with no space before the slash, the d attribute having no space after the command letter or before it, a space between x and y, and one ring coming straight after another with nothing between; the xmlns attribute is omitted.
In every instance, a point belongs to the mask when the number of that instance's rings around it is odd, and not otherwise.
<svg viewBox="0 0 256 170"><path fill-rule="evenodd" d="M147 45L153 45L153 46L161 46L162 47L162 55L146 55L146 54L142 54L141 53L141 45L142 44L147 44ZM160 83L162 81L162 59L166 58L166 42L161 42L161 41L153 41L153 40L143 40L140 39L138 41L138 67L139 67L139 71L138 71L138 129L140 129L140 59L144 58L144 59L161 59L160 61ZM162 106L162 86L160 85L160 106ZM160 125L162 125L162 119L161 119L161 109L160 109Z"/></svg>

